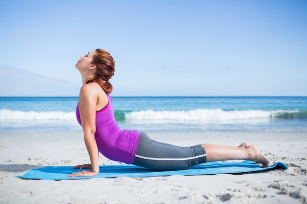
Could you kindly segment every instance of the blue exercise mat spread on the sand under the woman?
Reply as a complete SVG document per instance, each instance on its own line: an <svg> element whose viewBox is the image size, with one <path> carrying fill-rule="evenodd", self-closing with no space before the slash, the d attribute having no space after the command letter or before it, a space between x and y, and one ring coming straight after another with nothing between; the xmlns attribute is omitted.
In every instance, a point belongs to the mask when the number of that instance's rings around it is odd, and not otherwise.
<svg viewBox="0 0 307 204"><path fill-rule="evenodd" d="M92 179L92 178L116 178L116 177L158 177L171 175L213 175L213 174L235 174L266 171L271 169L287 169L288 167L277 162L270 167L262 168L261 165L251 161L243 162L208 162L190 167L184 170L152 170L134 165L107 165L100 166L100 173L95 177L68 177L67 174L80 171L72 169L71 166L47 166L39 169L31 169L22 179L42 180L65 180L65 179Z"/></svg>

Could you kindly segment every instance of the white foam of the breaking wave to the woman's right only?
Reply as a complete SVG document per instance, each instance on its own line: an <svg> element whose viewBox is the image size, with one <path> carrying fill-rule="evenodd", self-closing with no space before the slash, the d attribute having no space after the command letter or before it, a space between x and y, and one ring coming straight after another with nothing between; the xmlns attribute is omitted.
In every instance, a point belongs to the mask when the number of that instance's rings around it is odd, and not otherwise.
<svg viewBox="0 0 307 204"><path fill-rule="evenodd" d="M131 120L208 120L208 121L226 121L241 120L250 118L269 118L275 117L281 113L293 113L293 111L262 111L262 110L245 110L245 111L223 111L221 109L197 109L190 111L133 111L126 113L125 118Z"/></svg>

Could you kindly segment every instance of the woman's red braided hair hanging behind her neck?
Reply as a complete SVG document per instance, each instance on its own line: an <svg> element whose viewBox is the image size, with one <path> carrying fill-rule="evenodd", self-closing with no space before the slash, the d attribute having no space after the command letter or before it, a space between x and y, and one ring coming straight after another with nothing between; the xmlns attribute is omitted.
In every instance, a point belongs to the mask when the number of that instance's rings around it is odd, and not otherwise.
<svg viewBox="0 0 307 204"><path fill-rule="evenodd" d="M111 93L113 86L109 79L114 75L115 62L107 51L103 49L96 49L95 51L92 64L96 65L96 74L94 78L88 79L86 84L96 82L106 93Z"/></svg>

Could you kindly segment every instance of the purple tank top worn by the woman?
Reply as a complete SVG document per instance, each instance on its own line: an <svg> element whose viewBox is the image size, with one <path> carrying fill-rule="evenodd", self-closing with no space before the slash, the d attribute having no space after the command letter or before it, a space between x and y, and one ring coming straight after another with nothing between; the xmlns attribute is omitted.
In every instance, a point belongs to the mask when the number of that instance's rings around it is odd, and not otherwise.
<svg viewBox="0 0 307 204"><path fill-rule="evenodd" d="M137 130L121 130L114 117L112 100L109 94L108 104L101 111L96 112L95 139L99 152L108 159L133 162L139 142L140 132ZM79 104L76 110L77 121L81 125Z"/></svg>

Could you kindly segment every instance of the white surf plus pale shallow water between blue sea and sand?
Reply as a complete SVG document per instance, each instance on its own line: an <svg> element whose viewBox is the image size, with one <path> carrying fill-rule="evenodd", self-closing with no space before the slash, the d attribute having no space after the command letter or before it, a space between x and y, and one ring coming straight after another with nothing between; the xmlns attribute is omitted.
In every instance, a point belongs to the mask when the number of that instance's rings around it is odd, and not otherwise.
<svg viewBox="0 0 307 204"><path fill-rule="evenodd" d="M118 124L122 129L146 131L305 131L294 120L271 120L276 116L299 111L223 111L197 109L191 111L133 111L125 112ZM283 118L283 117L281 117ZM285 117L287 118L287 117ZM274 121L274 126L270 123ZM288 125L290 128L285 127ZM0 110L0 132L82 131L75 112L23 112Z"/></svg>

